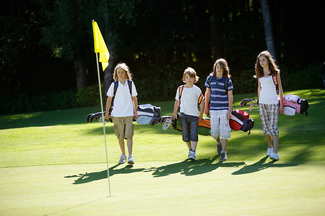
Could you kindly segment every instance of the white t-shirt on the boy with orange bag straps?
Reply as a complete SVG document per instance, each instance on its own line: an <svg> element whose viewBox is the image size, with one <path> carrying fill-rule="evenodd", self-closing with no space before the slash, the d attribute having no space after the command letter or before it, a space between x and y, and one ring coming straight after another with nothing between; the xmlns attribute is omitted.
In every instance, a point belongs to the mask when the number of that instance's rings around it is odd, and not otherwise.
<svg viewBox="0 0 325 216"><path fill-rule="evenodd" d="M180 101L180 112L187 115L199 116L198 100L201 93L201 89L196 85L193 85L192 88L183 87ZM175 99L179 100L179 87L177 89ZM204 96L202 100L204 100ZM204 108L201 107L201 109Z"/></svg>

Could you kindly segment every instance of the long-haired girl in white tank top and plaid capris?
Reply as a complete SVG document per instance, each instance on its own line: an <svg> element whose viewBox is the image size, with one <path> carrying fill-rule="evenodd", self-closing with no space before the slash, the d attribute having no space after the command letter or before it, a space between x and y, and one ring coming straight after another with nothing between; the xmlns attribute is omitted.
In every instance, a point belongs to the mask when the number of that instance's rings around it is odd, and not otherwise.
<svg viewBox="0 0 325 216"><path fill-rule="evenodd" d="M258 102L262 120L262 129L268 145L266 155L272 160L279 160L279 130L278 115L283 113L283 91L280 80L280 70L275 64L272 55L268 51L263 51L257 56L255 63L258 79ZM279 85L280 104L276 93L276 86L273 77L277 77ZM273 138L273 146L272 140Z"/></svg>

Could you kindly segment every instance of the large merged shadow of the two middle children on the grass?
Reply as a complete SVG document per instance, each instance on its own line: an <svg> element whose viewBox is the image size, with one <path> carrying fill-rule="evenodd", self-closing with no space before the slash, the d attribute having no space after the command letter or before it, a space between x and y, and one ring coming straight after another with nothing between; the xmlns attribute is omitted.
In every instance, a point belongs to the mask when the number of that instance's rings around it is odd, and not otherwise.
<svg viewBox="0 0 325 216"><path fill-rule="evenodd" d="M215 164L212 164L218 156L219 155L214 156L214 158L211 160L210 158L195 161L185 160L179 163L168 164L158 168L151 167L151 169L145 170L143 172L154 171L152 174L153 177L163 177L175 173L181 173L184 175L199 175L214 171L218 167L238 167L245 164L245 162L217 162Z"/></svg>

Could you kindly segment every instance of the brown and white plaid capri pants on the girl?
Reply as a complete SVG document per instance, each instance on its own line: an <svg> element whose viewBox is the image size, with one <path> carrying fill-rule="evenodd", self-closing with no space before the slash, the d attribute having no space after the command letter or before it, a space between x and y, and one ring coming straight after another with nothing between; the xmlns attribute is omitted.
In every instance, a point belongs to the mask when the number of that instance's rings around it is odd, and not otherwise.
<svg viewBox="0 0 325 216"><path fill-rule="evenodd" d="M262 129L265 135L279 136L278 116L279 104L259 104L259 111L262 120Z"/></svg>

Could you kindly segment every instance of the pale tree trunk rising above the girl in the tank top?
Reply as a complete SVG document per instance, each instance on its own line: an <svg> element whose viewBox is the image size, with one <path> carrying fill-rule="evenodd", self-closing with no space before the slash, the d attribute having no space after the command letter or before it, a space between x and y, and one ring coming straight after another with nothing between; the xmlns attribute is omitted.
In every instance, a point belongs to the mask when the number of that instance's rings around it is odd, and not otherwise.
<svg viewBox="0 0 325 216"><path fill-rule="evenodd" d="M266 47L267 50L273 55L273 57L276 58L273 31L272 31L272 20L271 20L268 0L262 0L261 5L262 5L263 20L264 20Z"/></svg>

